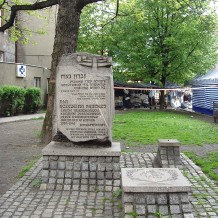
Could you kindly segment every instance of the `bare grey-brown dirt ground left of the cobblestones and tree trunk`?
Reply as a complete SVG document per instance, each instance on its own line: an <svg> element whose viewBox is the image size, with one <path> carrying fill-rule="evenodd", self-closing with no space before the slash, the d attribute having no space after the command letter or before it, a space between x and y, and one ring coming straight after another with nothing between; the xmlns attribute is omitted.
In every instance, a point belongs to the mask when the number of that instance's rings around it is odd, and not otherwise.
<svg viewBox="0 0 218 218"><path fill-rule="evenodd" d="M44 147L37 136L43 120L0 124L0 196L16 181L29 161L39 158Z"/></svg>

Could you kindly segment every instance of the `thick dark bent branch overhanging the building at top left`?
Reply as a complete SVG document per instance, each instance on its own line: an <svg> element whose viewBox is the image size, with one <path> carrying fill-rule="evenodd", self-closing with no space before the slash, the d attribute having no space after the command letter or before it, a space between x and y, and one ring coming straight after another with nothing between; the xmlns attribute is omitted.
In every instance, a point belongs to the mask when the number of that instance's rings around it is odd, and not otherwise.
<svg viewBox="0 0 218 218"><path fill-rule="evenodd" d="M58 4L58 0L47 0L43 2L36 2L32 5L26 4L26 5L13 5L11 7L11 14L10 18L7 23L5 23L2 27L0 27L0 31L5 31L14 24L14 20L16 17L17 11L31 11L31 10L39 10L47 7L51 7L53 5Z"/></svg>

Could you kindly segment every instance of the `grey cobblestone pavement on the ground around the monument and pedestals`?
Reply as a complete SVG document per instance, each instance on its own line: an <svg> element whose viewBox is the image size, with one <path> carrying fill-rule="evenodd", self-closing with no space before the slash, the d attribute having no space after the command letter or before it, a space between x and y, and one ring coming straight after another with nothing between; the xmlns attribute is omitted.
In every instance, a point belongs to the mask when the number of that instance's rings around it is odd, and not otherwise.
<svg viewBox="0 0 218 218"><path fill-rule="evenodd" d="M125 153L120 164L121 167L152 167L153 158L151 153ZM181 160L180 170L192 184L190 200L194 217L217 218L218 187L185 155L181 154ZM122 217L120 189L115 189L119 181L102 185L83 179L71 191L42 191L39 189L41 169L42 159L0 198L0 217Z"/></svg>

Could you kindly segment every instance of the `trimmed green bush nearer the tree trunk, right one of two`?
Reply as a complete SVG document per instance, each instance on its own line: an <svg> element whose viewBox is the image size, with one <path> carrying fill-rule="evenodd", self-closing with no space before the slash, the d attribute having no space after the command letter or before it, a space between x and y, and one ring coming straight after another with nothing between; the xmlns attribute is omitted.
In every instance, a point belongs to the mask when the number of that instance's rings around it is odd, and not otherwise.
<svg viewBox="0 0 218 218"><path fill-rule="evenodd" d="M28 88L25 93L25 113L35 113L42 106L39 88Z"/></svg>

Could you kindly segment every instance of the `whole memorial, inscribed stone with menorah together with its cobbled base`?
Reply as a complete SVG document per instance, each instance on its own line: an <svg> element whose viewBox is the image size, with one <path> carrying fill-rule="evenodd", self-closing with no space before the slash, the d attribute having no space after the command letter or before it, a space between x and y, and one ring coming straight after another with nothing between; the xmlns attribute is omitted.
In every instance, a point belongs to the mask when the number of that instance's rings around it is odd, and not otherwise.
<svg viewBox="0 0 218 218"><path fill-rule="evenodd" d="M53 141L43 153L43 187L72 189L81 179L120 179L120 144L112 142L112 59L62 56L56 77Z"/></svg>

